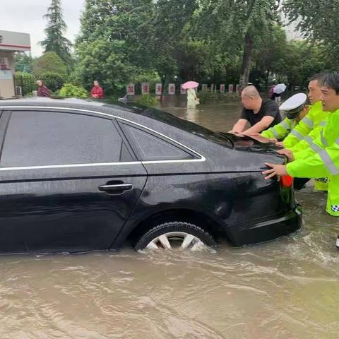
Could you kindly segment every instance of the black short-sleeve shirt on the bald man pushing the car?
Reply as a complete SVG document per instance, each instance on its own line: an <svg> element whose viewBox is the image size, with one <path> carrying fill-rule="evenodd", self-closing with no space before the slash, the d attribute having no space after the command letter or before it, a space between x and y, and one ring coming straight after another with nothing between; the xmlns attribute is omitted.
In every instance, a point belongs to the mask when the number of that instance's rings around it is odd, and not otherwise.
<svg viewBox="0 0 339 339"><path fill-rule="evenodd" d="M280 112L279 112L279 106L278 104L273 100L263 100L261 103L261 108L259 109L258 113L254 113L253 109L246 109L245 107L242 109L242 116L241 119L246 119L249 121L251 126L254 126L256 123L261 121L263 117L273 117L274 120L272 124L270 124L270 127L279 124L282 121Z"/></svg>

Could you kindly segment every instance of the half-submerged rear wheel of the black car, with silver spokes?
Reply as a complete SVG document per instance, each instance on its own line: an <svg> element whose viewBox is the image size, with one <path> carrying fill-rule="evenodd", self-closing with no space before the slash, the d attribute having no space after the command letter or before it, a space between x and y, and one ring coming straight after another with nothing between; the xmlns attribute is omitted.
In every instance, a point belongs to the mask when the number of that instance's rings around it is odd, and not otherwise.
<svg viewBox="0 0 339 339"><path fill-rule="evenodd" d="M159 237L161 238L159 239ZM201 227L188 222L174 221L165 222L148 230L138 239L134 248L139 251L143 249L173 249L179 247L194 251L203 245L218 246L213 237Z"/></svg>

